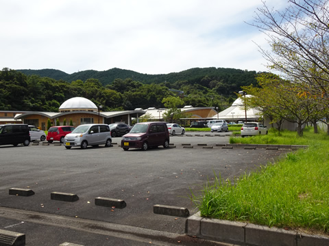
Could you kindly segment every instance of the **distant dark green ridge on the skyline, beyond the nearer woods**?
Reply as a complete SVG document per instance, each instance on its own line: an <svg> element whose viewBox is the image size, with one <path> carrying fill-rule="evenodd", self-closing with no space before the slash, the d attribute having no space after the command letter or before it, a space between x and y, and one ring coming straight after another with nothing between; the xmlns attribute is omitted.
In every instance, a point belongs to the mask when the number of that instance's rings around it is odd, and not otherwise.
<svg viewBox="0 0 329 246"><path fill-rule="evenodd" d="M111 84L114 79L132 79L141 83L175 83L176 81L188 81L188 83L199 83L204 77L209 77L211 81L219 81L221 83L240 87L241 85L254 83L255 71L245 71L234 68L191 68L182 72L171 72L169 74L142 74L132 70L124 70L120 68L112 68L106 71L85 70L67 74L55 69L41 70L17 70L26 75L39 75L40 77L49 77L56 80L64 80L67 82L80 79L98 79L102 85ZM204 81L206 83L206 81Z"/></svg>

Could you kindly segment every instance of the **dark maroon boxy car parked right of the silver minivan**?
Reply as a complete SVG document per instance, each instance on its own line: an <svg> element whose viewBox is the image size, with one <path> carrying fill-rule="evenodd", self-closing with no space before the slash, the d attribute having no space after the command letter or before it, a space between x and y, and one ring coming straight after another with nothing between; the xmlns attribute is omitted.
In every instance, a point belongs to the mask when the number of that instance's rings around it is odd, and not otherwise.
<svg viewBox="0 0 329 246"><path fill-rule="evenodd" d="M147 150L149 147L158 146L169 147L169 131L164 122L137 123L130 133L123 135L121 140L123 150L129 148Z"/></svg>

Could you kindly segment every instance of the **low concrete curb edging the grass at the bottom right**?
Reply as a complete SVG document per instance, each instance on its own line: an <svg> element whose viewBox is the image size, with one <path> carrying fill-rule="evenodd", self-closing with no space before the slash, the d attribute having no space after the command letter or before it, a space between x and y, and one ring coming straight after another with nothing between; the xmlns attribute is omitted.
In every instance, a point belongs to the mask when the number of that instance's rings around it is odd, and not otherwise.
<svg viewBox="0 0 329 246"><path fill-rule="evenodd" d="M329 245L329 237L326 236L301 234L281 228L269 228L239 221L208 219L200 217L200 213L186 219L185 232L189 236L208 240L252 246Z"/></svg>

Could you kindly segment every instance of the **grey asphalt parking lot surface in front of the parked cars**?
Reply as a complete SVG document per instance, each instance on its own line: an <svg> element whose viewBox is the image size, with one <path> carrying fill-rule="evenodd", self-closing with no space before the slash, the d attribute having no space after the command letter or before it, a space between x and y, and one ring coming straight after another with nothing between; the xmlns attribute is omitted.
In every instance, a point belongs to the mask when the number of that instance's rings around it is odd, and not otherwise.
<svg viewBox="0 0 329 246"><path fill-rule="evenodd" d="M37 215L21 215L20 217L19 213L16 213L16 218L8 218L5 215L9 212L1 213L1 210L0 229L29 232L33 235L33 240L36 237L39 238L38 245L60 245L60 242L64 243L64 240L69 239L73 241L72 243L82 245L110 245L110 242L121 245L116 240L122 243L123 238L127 242L122 245L132 245L132 241L138 242L134 245L144 245L151 241L156 244L157 238L160 238L159 235L154 236L153 240L145 239L142 232L134 234L134 236L139 235L138 239L127 235L134 230L132 228L135 228L137 231L162 232L176 238L177 235L184 235L186 219L156 215L153 213L155 204L188 208L192 215L197 210L191 202L191 193L199 194L202 186L207 180L211 182L215 174L220 174L223 179L232 179L269 161L273 162L281 154L289 151L222 149L216 144L229 142L229 136L226 133L204 133L199 137L195 134L192 137L174 136L170 141L175 148L159 147L145 152L135 149L123 151L118 146L120 140L121 137L112 139L114 144L111 148L99 146L98 148L88 147L86 150L80 148L66 150L64 146L56 144L47 146L42 143L38 146L30 144L28 147L0 146L0 206L49 216L64 216L73 220L86 219L97 221L97 223L111 223L127 227L127 232L123 233L125 236L112 238L103 233L101 241L95 243L96 239L94 239L94 243L90 243L91 239L77 235L74 226L66 230L63 226L58 226L55 230L54 224L50 222L51 218L42 219L40 215L38 215L39 219ZM191 143L193 148L184 148L182 146L184 143ZM203 148L199 143L205 143L213 148ZM35 195L29 197L8 195L8 190L12 187L32 189ZM79 200L77 202L51 200L52 192L74 193L78 195ZM122 209L95 206L95 197L125 200L127 206ZM27 222L20 223L20 219L29 221L30 226L28 227ZM67 224L69 223L74 223L74 221L68 221ZM45 242L45 238L42 239L40 236L40 234L46 234L44 230L53 232L51 242ZM117 228L117 230L108 231L119 233L125 229ZM89 233L86 229L83 232L84 235ZM151 234L150 232L145 234ZM56 233L58 233L57 241ZM69 239L66 240L67 238ZM88 238L93 238L93 236ZM192 241L185 239L173 239L171 243L180 241L182 245L193 244ZM27 236L26 245L36 245L33 240ZM196 239L193 238L193 240ZM212 245L209 242L203 243ZM171 244L162 242L158 245Z"/></svg>

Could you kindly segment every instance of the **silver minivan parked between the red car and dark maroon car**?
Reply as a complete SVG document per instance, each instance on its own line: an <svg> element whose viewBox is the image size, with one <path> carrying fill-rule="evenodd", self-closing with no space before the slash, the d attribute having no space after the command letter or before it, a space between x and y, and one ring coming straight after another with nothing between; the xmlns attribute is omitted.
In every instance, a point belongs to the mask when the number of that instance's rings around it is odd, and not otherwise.
<svg viewBox="0 0 329 246"><path fill-rule="evenodd" d="M76 146L85 149L87 146L97 147L99 144L110 147L111 143L112 137L108 124L83 124L64 137L66 149Z"/></svg>

